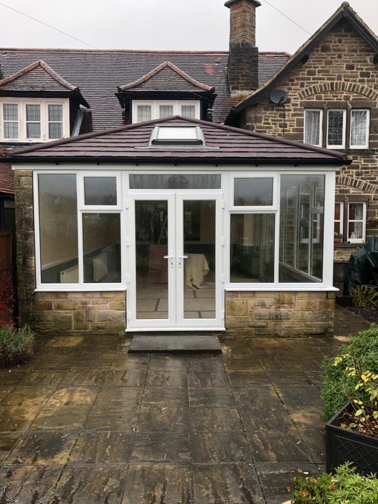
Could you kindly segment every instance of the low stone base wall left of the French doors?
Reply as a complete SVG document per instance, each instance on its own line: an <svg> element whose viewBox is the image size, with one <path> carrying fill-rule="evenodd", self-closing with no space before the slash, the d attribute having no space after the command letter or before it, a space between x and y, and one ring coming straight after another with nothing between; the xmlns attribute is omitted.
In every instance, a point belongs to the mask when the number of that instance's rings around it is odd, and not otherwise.
<svg viewBox="0 0 378 504"><path fill-rule="evenodd" d="M38 334L124 335L125 304L125 292L36 292L23 313Z"/></svg>

